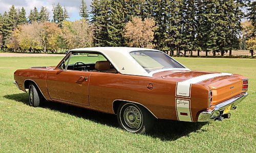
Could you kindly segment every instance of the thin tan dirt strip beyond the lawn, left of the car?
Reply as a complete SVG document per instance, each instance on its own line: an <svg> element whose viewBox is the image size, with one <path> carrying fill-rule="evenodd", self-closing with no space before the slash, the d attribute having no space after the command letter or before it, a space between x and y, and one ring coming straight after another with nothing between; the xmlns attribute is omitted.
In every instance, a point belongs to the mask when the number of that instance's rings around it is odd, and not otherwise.
<svg viewBox="0 0 256 153"><path fill-rule="evenodd" d="M65 54L0 53L0 57L48 57L48 56L65 56Z"/></svg>

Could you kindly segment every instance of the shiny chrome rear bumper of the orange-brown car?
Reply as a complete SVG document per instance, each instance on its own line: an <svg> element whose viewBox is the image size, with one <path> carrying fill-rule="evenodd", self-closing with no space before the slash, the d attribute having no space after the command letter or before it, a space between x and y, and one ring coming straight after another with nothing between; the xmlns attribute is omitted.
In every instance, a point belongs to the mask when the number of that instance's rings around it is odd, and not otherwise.
<svg viewBox="0 0 256 153"><path fill-rule="evenodd" d="M247 95L248 93L239 94L236 97L216 105L215 108L211 111L201 112L198 116L198 122L214 121L218 116L223 115L224 109L230 105L231 109L236 109L236 105L239 104Z"/></svg>

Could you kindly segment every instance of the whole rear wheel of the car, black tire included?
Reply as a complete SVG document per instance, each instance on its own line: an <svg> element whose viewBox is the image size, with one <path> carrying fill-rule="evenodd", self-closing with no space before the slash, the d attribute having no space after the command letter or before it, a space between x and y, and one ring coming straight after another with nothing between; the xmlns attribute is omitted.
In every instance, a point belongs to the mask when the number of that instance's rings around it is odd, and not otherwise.
<svg viewBox="0 0 256 153"><path fill-rule="evenodd" d="M122 103L117 110L117 120L122 129L145 134L154 126L155 117L140 105Z"/></svg>

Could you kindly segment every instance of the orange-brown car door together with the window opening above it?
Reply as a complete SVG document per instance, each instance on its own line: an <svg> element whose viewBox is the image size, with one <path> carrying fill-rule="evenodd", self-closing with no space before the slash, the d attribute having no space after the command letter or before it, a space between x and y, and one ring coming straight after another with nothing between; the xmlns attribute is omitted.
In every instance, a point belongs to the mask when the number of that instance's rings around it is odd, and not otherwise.
<svg viewBox="0 0 256 153"><path fill-rule="evenodd" d="M62 62L66 65L64 68L59 66L48 72L46 83L48 94L52 100L89 106L91 72L74 70L75 66L79 66L75 63L86 62L88 62L87 56L82 54L70 55Z"/></svg>

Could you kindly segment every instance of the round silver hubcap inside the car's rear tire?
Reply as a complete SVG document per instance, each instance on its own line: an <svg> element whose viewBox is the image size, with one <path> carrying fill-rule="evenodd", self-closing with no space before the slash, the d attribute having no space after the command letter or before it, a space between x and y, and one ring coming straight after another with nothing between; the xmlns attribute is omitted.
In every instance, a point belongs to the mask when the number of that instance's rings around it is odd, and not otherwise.
<svg viewBox="0 0 256 153"><path fill-rule="evenodd" d="M124 110L123 118L132 129L138 129L142 122L141 112L134 106L129 106Z"/></svg>

